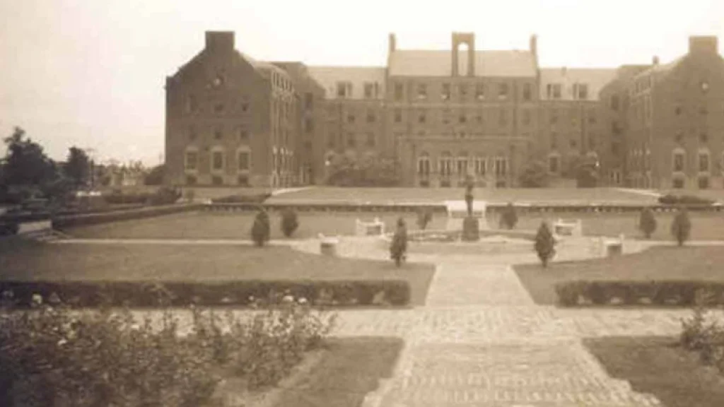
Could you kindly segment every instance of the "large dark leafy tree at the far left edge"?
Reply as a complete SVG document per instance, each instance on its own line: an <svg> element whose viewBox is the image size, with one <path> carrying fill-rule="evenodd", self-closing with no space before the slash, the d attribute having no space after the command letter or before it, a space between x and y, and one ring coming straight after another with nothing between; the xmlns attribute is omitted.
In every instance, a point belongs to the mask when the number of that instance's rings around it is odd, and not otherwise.
<svg viewBox="0 0 724 407"><path fill-rule="evenodd" d="M25 137L25 130L15 127L4 139L7 155L3 160L3 179L7 185L40 186L56 176L56 167L38 143Z"/></svg>

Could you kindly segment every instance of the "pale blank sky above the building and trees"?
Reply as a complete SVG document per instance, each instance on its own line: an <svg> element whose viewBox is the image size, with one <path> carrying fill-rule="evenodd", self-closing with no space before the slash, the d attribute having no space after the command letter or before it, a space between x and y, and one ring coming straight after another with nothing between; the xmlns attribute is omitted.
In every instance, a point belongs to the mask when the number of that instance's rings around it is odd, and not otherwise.
<svg viewBox="0 0 724 407"><path fill-rule="evenodd" d="M0 0L0 16L0 136L17 125L55 159L75 145L146 164L163 152L164 78L206 30L311 65L384 66L390 32L400 49L450 49L452 31L527 49L536 33L544 67L668 62L689 35L724 40L721 0Z"/></svg>

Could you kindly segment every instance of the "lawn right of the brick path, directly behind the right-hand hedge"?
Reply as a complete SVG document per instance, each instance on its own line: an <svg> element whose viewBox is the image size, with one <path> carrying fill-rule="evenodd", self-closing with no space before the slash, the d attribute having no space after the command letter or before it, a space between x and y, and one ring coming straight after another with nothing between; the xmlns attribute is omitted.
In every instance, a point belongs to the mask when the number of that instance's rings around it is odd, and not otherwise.
<svg viewBox="0 0 724 407"><path fill-rule="evenodd" d="M555 285L571 280L724 281L724 246L657 247L610 259L515 266L518 278L539 304L555 304Z"/></svg>

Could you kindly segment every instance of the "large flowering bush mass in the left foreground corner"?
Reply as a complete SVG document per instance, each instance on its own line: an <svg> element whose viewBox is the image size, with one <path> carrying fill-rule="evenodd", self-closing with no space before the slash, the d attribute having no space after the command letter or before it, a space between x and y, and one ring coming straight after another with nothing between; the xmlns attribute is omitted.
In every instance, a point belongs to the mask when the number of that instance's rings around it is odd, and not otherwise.
<svg viewBox="0 0 724 407"><path fill-rule="evenodd" d="M226 330L213 312L194 309L182 336L169 309L153 327L127 310L78 314L38 299L33 312L0 311L2 406L207 405L218 372L235 372L251 388L275 385L335 319L287 295L282 308L249 321L227 313Z"/></svg>

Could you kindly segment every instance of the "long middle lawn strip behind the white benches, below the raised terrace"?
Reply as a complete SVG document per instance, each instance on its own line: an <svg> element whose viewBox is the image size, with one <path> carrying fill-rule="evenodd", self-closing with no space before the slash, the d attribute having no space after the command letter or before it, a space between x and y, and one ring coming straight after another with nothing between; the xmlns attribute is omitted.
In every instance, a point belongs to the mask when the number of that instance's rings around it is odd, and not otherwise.
<svg viewBox="0 0 724 407"><path fill-rule="evenodd" d="M371 221L378 217L387 230L394 230L397 218L403 217L409 230L416 230L416 214L350 214L321 212L299 214L299 229L292 238L314 238L324 235L353 235L355 219ZM445 214L433 215L428 229L445 229ZM585 235L639 238L638 214L521 214L518 229L535 230L543 219L581 219ZM673 214L657 214L658 228L652 236L657 240L671 240L669 233ZM104 225L77 227L67 230L76 238L156 238L156 239L249 239L254 214L228 212L190 212L148 219L114 222ZM691 212L691 238L696 240L724 240L724 214ZM284 238L279 229L279 214L271 214L271 237ZM489 214L488 224L497 228L497 215Z"/></svg>

